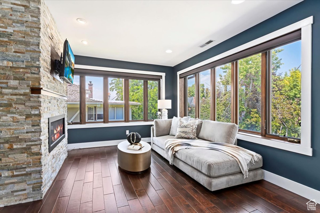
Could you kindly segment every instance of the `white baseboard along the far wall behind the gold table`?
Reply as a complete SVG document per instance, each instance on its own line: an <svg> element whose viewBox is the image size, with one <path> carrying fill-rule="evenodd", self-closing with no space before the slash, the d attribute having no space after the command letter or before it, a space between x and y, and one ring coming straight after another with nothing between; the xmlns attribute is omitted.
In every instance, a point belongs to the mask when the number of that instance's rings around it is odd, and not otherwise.
<svg viewBox="0 0 320 213"><path fill-rule="evenodd" d="M95 147L108 147L116 146L124 140L113 140L113 141L95 141L95 142L84 142L84 143L70 143L68 144L68 150L71 149L82 149L82 148L95 148ZM151 142L151 138L141 138L141 141ZM129 143L128 143L129 144Z"/></svg>

